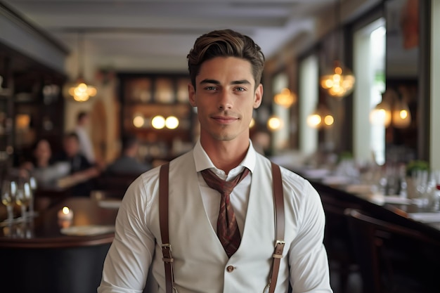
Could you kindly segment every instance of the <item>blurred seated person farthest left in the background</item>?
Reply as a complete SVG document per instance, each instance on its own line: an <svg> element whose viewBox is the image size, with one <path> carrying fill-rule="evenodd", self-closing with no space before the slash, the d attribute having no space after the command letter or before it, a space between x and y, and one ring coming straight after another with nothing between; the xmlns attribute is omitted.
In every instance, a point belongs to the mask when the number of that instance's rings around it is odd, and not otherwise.
<svg viewBox="0 0 440 293"><path fill-rule="evenodd" d="M56 181L70 172L70 165L65 162L53 162L50 143L41 138L32 148L32 158L22 164L27 176L34 176L38 186L54 187Z"/></svg>

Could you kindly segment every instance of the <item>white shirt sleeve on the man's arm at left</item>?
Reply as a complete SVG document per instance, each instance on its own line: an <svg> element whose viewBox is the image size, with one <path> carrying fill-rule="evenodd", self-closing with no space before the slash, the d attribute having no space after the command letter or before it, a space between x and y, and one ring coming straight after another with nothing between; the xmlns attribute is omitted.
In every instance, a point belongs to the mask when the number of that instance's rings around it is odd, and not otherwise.
<svg viewBox="0 0 440 293"><path fill-rule="evenodd" d="M154 180L146 177L131 183L119 207L115 239L105 258L98 293L143 292L155 249L146 220L154 183L148 183L150 188L145 184Z"/></svg>

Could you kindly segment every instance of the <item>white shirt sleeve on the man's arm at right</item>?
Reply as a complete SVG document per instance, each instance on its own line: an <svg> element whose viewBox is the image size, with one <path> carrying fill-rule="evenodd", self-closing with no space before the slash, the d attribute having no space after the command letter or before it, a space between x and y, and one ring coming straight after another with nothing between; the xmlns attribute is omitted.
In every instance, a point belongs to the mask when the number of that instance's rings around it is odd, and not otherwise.
<svg viewBox="0 0 440 293"><path fill-rule="evenodd" d="M308 181L304 182L297 236L289 249L292 293L329 293L332 289L323 245L325 214L318 192Z"/></svg>

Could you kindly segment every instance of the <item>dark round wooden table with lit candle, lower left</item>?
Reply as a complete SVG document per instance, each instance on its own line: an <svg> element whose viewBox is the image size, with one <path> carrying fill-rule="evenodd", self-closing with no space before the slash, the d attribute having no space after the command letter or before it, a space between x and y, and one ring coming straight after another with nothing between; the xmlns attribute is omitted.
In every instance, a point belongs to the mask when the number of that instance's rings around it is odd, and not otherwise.
<svg viewBox="0 0 440 293"><path fill-rule="evenodd" d="M1 221L0 291L96 292L119 203L68 197L12 223Z"/></svg>

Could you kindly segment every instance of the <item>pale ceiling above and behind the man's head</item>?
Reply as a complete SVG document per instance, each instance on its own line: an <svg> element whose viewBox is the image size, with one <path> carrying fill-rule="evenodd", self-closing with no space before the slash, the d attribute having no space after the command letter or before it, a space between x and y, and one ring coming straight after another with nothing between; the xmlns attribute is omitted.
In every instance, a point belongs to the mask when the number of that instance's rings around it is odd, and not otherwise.
<svg viewBox="0 0 440 293"><path fill-rule="evenodd" d="M314 29L336 0L1 0L69 51L84 38L86 58L115 70L186 70L195 39L210 30L243 32L270 58ZM91 56L91 57L90 57ZM90 59L92 60L92 59Z"/></svg>

